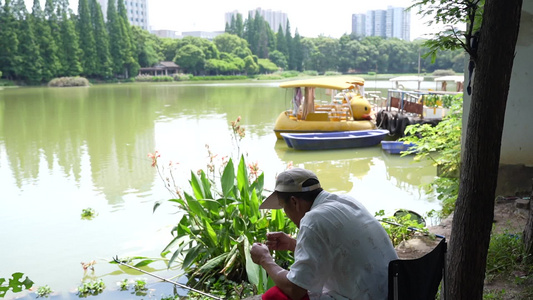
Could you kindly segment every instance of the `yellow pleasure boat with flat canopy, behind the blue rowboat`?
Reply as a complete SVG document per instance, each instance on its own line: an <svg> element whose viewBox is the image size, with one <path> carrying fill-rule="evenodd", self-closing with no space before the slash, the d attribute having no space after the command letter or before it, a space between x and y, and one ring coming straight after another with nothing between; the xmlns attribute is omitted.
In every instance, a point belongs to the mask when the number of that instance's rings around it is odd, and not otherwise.
<svg viewBox="0 0 533 300"><path fill-rule="evenodd" d="M322 77L280 84L294 88L293 108L283 111L274 125L280 133L333 132L375 129L372 107L363 97L364 79L359 77ZM302 88L304 89L302 94ZM329 101L315 100L315 89L326 89ZM338 91L338 92L333 92Z"/></svg>

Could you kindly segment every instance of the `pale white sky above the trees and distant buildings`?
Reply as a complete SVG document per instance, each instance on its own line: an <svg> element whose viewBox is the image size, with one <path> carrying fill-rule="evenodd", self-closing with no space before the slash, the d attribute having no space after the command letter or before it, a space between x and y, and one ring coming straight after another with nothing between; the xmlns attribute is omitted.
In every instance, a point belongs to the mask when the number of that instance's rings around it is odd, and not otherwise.
<svg viewBox="0 0 533 300"><path fill-rule="evenodd" d="M25 0L31 10L33 0ZM41 0L44 7L45 0ZM152 30L168 29L182 31L223 31L226 12L237 10L243 17L256 8L282 11L287 14L292 33L298 29L300 36L319 35L339 38L351 33L352 14L368 10L386 9L387 6L408 7L413 0L147 0L148 22ZM311 3L313 2L313 3ZM70 0L70 7L77 12L78 1ZM411 40L432 32L416 14L411 11Z"/></svg>

